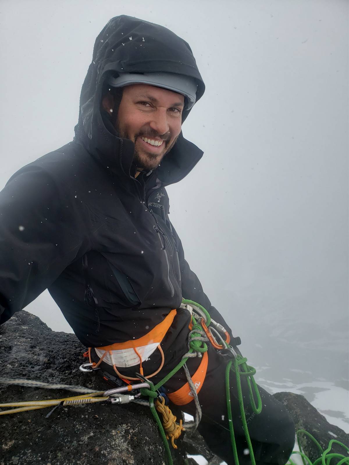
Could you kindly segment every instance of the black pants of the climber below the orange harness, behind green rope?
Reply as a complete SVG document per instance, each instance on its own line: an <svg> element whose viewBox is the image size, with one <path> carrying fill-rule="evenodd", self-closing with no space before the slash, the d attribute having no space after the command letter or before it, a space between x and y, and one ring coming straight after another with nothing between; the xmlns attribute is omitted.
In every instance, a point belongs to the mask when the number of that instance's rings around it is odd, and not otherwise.
<svg viewBox="0 0 349 465"><path fill-rule="evenodd" d="M188 360L187 366L190 374L194 374L200 360L197 358ZM198 394L202 409L202 418L198 430L211 451L230 465L235 464L235 461L230 441L225 394L227 363L228 360L219 355L209 344L208 370L205 382ZM165 387L168 392L171 392L180 388L185 382L186 378L183 369L181 369L168 381ZM262 412L254 414L250 405L247 381L244 377L241 377L241 382L248 432L256 464L286 464L295 445L295 425L289 412L287 412L284 405L258 386L262 399ZM247 465L251 463L251 460L249 455L246 454L248 445L242 429L235 373L232 371L230 372L230 398L239 463ZM257 405L256 398L255 403ZM181 410L194 416L194 401L182 405Z"/></svg>

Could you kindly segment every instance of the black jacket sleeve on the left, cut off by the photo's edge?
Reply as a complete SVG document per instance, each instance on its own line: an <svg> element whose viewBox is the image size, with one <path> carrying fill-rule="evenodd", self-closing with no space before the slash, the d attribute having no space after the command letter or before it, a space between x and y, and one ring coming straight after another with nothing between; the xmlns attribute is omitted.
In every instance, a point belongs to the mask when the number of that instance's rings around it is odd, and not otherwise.
<svg viewBox="0 0 349 465"><path fill-rule="evenodd" d="M21 168L0 192L0 324L83 255L81 207L67 192L35 164Z"/></svg>

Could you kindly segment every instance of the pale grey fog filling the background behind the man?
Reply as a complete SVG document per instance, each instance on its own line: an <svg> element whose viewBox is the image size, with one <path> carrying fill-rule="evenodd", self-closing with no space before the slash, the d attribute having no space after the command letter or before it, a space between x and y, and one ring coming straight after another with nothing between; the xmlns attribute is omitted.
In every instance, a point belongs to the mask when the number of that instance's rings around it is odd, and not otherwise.
<svg viewBox="0 0 349 465"><path fill-rule="evenodd" d="M188 41L206 92L182 129L204 156L168 187L187 261L256 379L296 389L345 428L348 2L2 0L0 14L0 189L72 140L94 40L111 17ZM26 310L71 331L47 291Z"/></svg>

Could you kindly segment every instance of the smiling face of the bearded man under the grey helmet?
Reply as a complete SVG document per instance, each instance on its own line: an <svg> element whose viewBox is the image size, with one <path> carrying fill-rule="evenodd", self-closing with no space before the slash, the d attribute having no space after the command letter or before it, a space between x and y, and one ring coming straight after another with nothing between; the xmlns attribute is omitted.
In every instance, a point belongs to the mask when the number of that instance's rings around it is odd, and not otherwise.
<svg viewBox="0 0 349 465"><path fill-rule="evenodd" d="M107 112L114 109L111 93L103 97L102 105ZM113 115L114 126L119 137L134 142L137 167L146 171L156 168L175 145L183 107L184 96L168 89L148 84L123 88L117 117Z"/></svg>

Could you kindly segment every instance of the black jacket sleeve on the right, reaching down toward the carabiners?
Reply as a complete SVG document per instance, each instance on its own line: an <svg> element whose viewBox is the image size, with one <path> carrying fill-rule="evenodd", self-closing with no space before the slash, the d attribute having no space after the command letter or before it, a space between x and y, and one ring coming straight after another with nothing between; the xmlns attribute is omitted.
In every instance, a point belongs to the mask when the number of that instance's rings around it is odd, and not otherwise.
<svg viewBox="0 0 349 465"><path fill-rule="evenodd" d="M207 295L202 289L199 278L196 276L195 272L193 272L190 269L188 262L184 258L184 250L181 243L181 239L175 232L175 228L173 226L172 232L174 234L178 249L177 252L181 271L181 288L183 298L194 300L194 302L197 302L198 304L203 306L208 311L211 318L213 318L217 323L220 323L222 326L224 326L226 330L229 332L230 336L232 337L231 329L229 328L221 314L218 312L218 310L211 305L211 302L209 301Z"/></svg>

